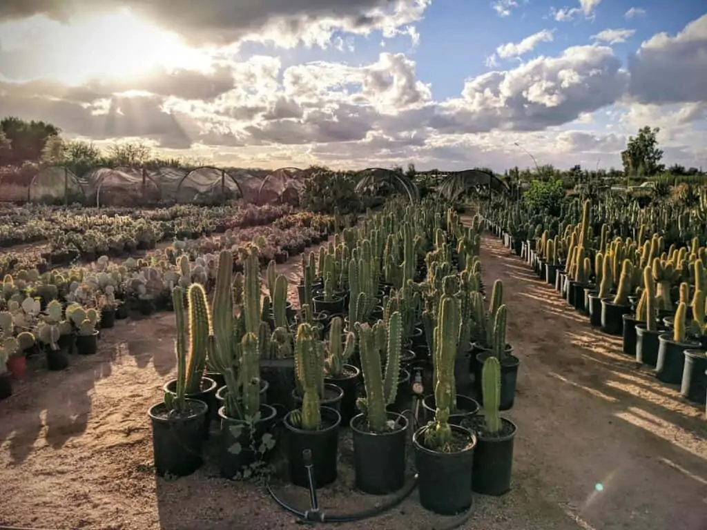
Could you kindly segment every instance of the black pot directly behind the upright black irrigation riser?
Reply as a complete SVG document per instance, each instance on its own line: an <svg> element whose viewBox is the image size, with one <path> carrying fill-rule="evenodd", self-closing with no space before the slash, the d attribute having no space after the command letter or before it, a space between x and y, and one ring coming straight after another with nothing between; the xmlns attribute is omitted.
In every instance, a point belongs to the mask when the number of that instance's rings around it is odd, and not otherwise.
<svg viewBox="0 0 707 530"><path fill-rule="evenodd" d="M341 415L333 408L322 407L322 429L303 430L292 425L292 413L285 416L287 429L287 460L290 477L294 485L309 487L303 452L309 449L314 466L315 487L323 488L337 480L337 456L339 454L339 424Z"/></svg>

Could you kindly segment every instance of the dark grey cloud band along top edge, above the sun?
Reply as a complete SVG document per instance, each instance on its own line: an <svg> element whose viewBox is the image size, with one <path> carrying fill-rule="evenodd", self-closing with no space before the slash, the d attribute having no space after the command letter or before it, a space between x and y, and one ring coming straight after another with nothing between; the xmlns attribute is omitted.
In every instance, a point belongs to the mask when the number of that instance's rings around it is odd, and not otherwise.
<svg viewBox="0 0 707 530"><path fill-rule="evenodd" d="M43 15L77 16L129 8L137 16L184 36L192 44L226 45L241 40L293 47L329 45L337 31L391 37L422 18L431 0L4 0L0 20Z"/></svg>

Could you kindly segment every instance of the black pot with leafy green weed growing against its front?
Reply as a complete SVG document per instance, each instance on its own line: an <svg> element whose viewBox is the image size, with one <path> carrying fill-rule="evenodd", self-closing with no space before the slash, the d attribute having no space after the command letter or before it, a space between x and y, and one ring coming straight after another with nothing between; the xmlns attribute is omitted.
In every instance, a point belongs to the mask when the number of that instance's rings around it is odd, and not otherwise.
<svg viewBox="0 0 707 530"><path fill-rule="evenodd" d="M218 417L221 418L218 469L223 478L233 478L259 459L267 461L271 451L261 454L258 449L263 435L275 425L277 411L274 407L260 404L260 418L252 426L226 416L224 407L218 410Z"/></svg>

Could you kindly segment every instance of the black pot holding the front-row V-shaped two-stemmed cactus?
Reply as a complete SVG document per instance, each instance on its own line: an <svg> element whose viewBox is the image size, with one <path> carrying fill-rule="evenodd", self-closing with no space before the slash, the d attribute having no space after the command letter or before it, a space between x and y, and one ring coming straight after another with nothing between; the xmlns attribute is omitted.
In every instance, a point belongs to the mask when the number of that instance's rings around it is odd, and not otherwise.
<svg viewBox="0 0 707 530"><path fill-rule="evenodd" d="M405 483L407 418L395 412L387 416L395 429L380 434L368 430L363 414L351 420L356 488L370 495L393 493Z"/></svg>

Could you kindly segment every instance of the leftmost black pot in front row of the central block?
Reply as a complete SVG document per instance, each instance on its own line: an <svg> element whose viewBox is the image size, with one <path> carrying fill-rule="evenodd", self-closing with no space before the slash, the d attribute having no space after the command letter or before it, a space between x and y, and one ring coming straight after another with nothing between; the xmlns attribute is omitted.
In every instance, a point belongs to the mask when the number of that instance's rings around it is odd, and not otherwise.
<svg viewBox="0 0 707 530"><path fill-rule="evenodd" d="M170 413L164 403L148 410L158 476L187 476L203 464L204 418L209 407L197 399L187 399L186 405L187 411L182 415Z"/></svg>

